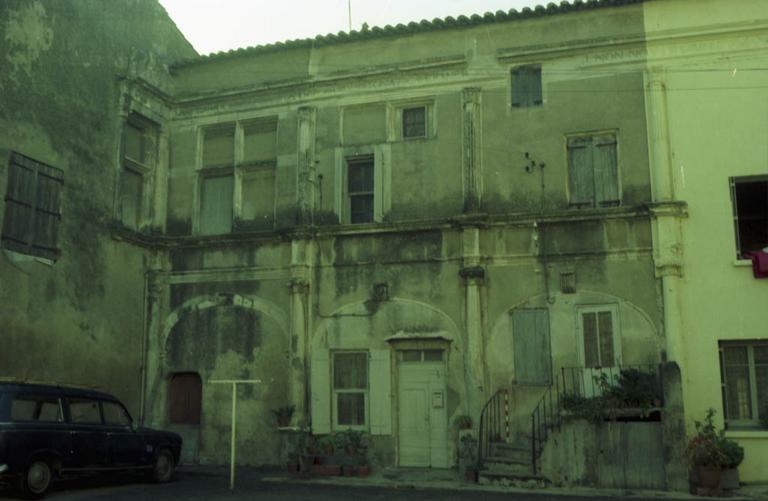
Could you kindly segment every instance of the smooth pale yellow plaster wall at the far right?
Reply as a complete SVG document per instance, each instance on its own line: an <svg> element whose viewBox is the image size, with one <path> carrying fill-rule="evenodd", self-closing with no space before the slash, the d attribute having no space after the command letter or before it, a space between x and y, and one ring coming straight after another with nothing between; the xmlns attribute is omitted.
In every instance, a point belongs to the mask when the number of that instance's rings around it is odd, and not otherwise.
<svg viewBox="0 0 768 501"><path fill-rule="evenodd" d="M649 79L664 87L654 113L666 121L669 149L668 161L655 165L669 180L656 183L657 198L683 200L690 214L678 222L681 233L659 231L659 247L677 245L682 263L682 276L668 278L665 294L690 434L710 407L722 424L718 342L768 339L768 283L736 258L729 185L731 176L768 173L768 78L750 70L768 64L768 6L745 0L732 7L710 0L645 7L648 36L656 39L648 47ZM666 38L675 34L681 37ZM728 435L745 447L741 479L768 480L768 431Z"/></svg>

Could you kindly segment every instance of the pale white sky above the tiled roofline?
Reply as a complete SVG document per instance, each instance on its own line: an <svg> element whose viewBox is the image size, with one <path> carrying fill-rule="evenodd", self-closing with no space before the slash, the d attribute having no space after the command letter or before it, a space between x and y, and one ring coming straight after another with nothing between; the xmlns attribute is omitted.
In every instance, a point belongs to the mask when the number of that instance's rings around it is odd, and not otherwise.
<svg viewBox="0 0 768 501"><path fill-rule="evenodd" d="M551 0L160 0L200 54L436 17L520 10ZM559 0L558 0L559 3Z"/></svg>

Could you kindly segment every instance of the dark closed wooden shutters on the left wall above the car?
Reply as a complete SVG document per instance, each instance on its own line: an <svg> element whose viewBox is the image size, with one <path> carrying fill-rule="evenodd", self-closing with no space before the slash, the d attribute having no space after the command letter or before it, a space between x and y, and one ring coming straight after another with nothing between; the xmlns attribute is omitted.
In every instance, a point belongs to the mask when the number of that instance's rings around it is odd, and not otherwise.
<svg viewBox="0 0 768 501"><path fill-rule="evenodd" d="M33 188L32 188L32 194L31 194L31 200L24 201L21 199L16 199L13 197L11 191L15 189L15 186L11 185L11 172L14 171L14 169L21 169L21 170L27 170L31 171L32 175L34 176L34 180L32 182ZM14 179L20 179L20 176L16 174ZM53 183L56 183L56 194L55 194L55 207L53 208L45 208L40 205L40 201L38 200L38 193L40 190L41 182L40 177L46 177L50 179ZM53 167L51 165L45 164L43 162L40 162L38 160L34 160L26 155L22 155L21 153L17 153L15 151L11 152L11 155L8 159L8 180L6 183L6 192L5 192L5 212L3 215L3 226L2 230L0 231L0 247L7 249L12 252L16 252L19 254L24 254L27 256L33 256L36 258L41 259L47 259L50 261L56 261L61 256L61 249L59 248L59 229L61 227L61 219L62 219L62 211L61 211L61 198L63 194L63 188L64 188L64 171ZM9 230L7 228L11 225L9 223L11 217L11 210L9 207L11 206L25 206L29 210L29 213L26 217L24 217L24 221L21 221L22 226L27 228L26 234L24 235L24 238L26 238L26 241L19 240L17 238L17 235L10 235L9 233L6 233L6 231ZM15 212L15 211L14 211ZM53 228L53 234L54 234L54 242L53 245L55 247L50 247L48 245L41 245L41 236L39 235L35 220L38 213L45 213L47 216L53 217L55 220L55 227ZM21 218L18 216L18 213L15 213L17 218ZM19 221L16 221L14 224L19 224Z"/></svg>

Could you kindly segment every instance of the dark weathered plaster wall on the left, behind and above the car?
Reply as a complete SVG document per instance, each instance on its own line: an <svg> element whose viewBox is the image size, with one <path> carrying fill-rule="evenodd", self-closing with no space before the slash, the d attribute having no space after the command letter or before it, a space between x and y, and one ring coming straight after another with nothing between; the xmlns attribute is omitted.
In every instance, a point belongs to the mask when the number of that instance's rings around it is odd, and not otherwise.
<svg viewBox="0 0 768 501"><path fill-rule="evenodd" d="M138 416L150 254L109 230L117 76L162 81L163 64L195 52L148 0L5 1L0 33L0 193L12 151L64 172L61 258L0 252L0 375L97 385Z"/></svg>

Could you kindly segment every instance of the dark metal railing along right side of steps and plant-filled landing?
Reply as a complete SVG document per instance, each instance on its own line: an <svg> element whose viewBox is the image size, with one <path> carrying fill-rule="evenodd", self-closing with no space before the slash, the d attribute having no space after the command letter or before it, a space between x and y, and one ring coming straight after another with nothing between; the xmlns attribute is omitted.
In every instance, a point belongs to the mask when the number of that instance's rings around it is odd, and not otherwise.
<svg viewBox="0 0 768 501"><path fill-rule="evenodd" d="M563 367L531 413L534 474L550 432L563 423L563 411L595 398L605 398L612 409L663 406L658 366Z"/></svg>

